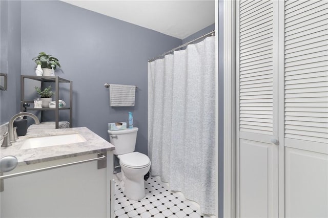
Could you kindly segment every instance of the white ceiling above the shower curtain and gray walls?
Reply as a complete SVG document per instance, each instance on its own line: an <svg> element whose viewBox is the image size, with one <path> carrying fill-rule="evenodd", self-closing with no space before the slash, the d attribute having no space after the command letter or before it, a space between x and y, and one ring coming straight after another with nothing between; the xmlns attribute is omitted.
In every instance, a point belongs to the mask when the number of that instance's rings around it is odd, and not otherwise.
<svg viewBox="0 0 328 218"><path fill-rule="evenodd" d="M215 23L214 0L63 2L180 39Z"/></svg>

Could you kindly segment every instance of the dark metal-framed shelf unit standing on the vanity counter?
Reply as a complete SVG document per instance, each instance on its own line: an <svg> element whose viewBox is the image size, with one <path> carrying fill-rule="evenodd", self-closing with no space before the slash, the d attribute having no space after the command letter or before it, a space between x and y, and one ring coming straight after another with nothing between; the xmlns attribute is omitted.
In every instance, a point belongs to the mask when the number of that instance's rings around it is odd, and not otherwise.
<svg viewBox="0 0 328 218"><path fill-rule="evenodd" d="M28 111L54 111L55 112L55 126L58 128L58 121L59 121L59 111L61 110L69 110L70 111L70 127L72 127L73 124L73 111L72 111L72 97L73 97L73 82L64 78L60 78L58 76L26 76L22 75L20 76L20 111L23 111L23 103L33 103L32 100L26 100L25 99L25 79L32 79L43 82L54 82L55 83L55 96L56 96L56 107L55 108L27 108ZM70 85L70 104L69 107L63 107L58 108L58 100L59 100L59 83L69 83ZM41 116L43 116L41 114Z"/></svg>

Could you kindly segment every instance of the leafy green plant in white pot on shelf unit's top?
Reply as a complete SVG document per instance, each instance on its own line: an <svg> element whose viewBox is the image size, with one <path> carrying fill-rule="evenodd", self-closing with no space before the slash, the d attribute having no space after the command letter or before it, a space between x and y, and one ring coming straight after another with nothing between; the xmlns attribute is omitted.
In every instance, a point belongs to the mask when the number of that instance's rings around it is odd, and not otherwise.
<svg viewBox="0 0 328 218"><path fill-rule="evenodd" d="M45 52L40 52L38 56L32 58L36 64L40 64L44 76L51 76L51 71L60 68L59 60L52 55L47 55ZM52 75L54 76L54 75Z"/></svg>

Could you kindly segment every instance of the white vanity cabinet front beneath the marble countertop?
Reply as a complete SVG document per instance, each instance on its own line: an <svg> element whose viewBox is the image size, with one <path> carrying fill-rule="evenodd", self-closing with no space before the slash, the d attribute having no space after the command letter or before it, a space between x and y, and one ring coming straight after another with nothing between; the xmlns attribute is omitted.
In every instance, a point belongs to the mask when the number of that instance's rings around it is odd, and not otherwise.
<svg viewBox="0 0 328 218"><path fill-rule="evenodd" d="M18 165L4 175L94 158L97 154ZM105 161L101 169L91 161L5 179L0 217L115 217L113 151Z"/></svg>

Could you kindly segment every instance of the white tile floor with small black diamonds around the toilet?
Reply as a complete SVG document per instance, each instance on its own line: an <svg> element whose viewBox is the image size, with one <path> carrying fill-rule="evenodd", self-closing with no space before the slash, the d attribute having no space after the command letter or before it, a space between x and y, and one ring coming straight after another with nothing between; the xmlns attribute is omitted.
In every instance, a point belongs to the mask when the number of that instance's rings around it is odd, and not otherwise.
<svg viewBox="0 0 328 218"><path fill-rule="evenodd" d="M171 192L167 184L155 177L145 181L146 197L140 201L129 200L120 189L120 173L115 180L115 217L214 217L201 214L199 206L187 200L180 192Z"/></svg>

